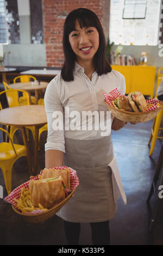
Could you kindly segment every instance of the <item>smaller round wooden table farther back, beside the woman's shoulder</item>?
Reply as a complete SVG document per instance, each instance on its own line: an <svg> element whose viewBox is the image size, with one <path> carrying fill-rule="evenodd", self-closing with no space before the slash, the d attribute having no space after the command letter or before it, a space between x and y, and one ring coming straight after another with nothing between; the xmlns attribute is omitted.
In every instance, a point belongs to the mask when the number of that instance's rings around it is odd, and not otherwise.
<svg viewBox="0 0 163 256"><path fill-rule="evenodd" d="M26 90L26 92L29 94L29 102L31 104L31 99L30 99L30 92L32 90L35 90L35 95L36 95L36 104L38 104L39 100L39 94L38 91L42 89L46 89L48 86L47 82L27 82L27 83L11 83L9 86L12 89L20 89L20 90Z"/></svg>

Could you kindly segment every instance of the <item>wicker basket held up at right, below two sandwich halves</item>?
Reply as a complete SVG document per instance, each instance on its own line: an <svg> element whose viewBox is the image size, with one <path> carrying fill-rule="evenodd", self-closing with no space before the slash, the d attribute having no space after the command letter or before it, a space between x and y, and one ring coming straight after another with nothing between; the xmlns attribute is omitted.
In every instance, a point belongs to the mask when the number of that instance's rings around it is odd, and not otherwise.
<svg viewBox="0 0 163 256"><path fill-rule="evenodd" d="M158 109L145 112L145 113L135 113L135 112L128 112L128 111L114 108L104 100L104 103L109 108L109 110L111 111L112 115L114 115L114 117L116 117L117 119L120 119L121 121L130 122L130 123L146 123L147 121L155 118L156 115L163 108L163 101L160 101L160 102L161 102L161 106Z"/></svg>

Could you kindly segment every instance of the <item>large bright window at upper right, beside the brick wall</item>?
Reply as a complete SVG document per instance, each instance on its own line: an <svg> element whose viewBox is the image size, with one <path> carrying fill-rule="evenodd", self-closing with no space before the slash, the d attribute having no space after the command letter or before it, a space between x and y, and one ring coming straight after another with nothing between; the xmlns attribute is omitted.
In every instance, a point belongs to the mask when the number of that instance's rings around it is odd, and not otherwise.
<svg viewBox="0 0 163 256"><path fill-rule="evenodd" d="M111 0L110 41L115 45L157 45L161 1Z"/></svg>

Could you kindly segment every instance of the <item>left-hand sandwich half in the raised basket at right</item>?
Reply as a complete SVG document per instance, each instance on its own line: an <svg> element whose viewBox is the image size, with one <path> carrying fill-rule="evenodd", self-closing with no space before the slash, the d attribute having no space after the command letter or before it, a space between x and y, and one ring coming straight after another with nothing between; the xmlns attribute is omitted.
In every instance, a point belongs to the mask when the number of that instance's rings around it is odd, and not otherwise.
<svg viewBox="0 0 163 256"><path fill-rule="evenodd" d="M118 96L115 100L111 101L111 104L115 108L133 112L133 109L131 108L131 106L129 104L128 97L125 95Z"/></svg>

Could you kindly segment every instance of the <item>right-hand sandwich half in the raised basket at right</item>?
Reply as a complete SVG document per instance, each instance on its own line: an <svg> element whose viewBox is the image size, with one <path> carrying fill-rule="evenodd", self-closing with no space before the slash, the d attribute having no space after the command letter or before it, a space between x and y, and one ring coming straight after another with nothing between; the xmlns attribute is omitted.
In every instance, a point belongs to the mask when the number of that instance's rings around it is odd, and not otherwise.
<svg viewBox="0 0 163 256"><path fill-rule="evenodd" d="M131 92L128 94L128 100L134 112L145 112L147 110L147 102L141 92Z"/></svg>

